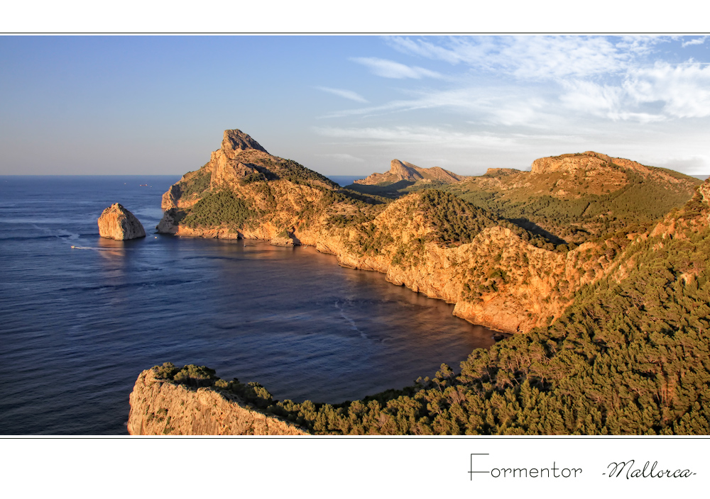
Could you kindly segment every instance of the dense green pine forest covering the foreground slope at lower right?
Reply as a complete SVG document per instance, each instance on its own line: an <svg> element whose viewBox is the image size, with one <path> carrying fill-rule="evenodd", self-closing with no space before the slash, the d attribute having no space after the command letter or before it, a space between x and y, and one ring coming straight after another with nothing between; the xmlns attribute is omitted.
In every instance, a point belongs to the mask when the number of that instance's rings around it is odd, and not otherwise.
<svg viewBox="0 0 710 499"><path fill-rule="evenodd" d="M710 232L659 242L639 245L620 284L601 281L554 325L474 351L458 376L442 366L370 400L273 412L314 432L706 434Z"/></svg>

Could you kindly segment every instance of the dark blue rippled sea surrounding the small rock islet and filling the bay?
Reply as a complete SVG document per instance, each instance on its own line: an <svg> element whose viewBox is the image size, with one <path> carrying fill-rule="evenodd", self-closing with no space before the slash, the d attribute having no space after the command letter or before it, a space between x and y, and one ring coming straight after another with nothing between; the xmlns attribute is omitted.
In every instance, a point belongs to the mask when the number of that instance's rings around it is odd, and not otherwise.
<svg viewBox="0 0 710 499"><path fill-rule="evenodd" d="M339 403L493 344L453 305L312 247L153 234L178 179L0 176L0 434L126 434L136 377L165 361ZM115 202L148 237L99 237Z"/></svg>

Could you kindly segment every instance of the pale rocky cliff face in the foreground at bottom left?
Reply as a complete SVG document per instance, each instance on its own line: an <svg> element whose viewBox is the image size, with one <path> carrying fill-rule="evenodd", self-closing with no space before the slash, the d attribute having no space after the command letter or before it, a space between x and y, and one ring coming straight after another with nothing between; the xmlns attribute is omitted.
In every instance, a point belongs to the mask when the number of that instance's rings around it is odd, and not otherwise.
<svg viewBox="0 0 710 499"><path fill-rule="evenodd" d="M236 396L213 388L189 388L138 375L130 397L131 435L302 435L299 427L258 412Z"/></svg>

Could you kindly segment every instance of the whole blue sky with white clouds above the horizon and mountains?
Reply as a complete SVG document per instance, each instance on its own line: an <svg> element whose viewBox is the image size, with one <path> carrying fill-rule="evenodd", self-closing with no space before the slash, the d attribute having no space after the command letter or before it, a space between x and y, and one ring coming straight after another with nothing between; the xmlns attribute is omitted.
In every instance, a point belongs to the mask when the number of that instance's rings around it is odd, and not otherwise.
<svg viewBox="0 0 710 499"><path fill-rule="evenodd" d="M326 175L594 150L710 174L707 36L2 36L0 175L175 174L239 128Z"/></svg>

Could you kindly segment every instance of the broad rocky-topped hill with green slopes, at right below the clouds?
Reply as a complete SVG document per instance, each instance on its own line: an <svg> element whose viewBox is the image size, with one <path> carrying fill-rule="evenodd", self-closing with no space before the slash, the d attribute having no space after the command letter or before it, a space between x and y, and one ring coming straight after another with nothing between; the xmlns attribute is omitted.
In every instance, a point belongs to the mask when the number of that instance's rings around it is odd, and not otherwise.
<svg viewBox="0 0 710 499"><path fill-rule="evenodd" d="M598 152L536 159L530 172L488 169L442 189L558 242L643 233L700 184L692 176Z"/></svg>

